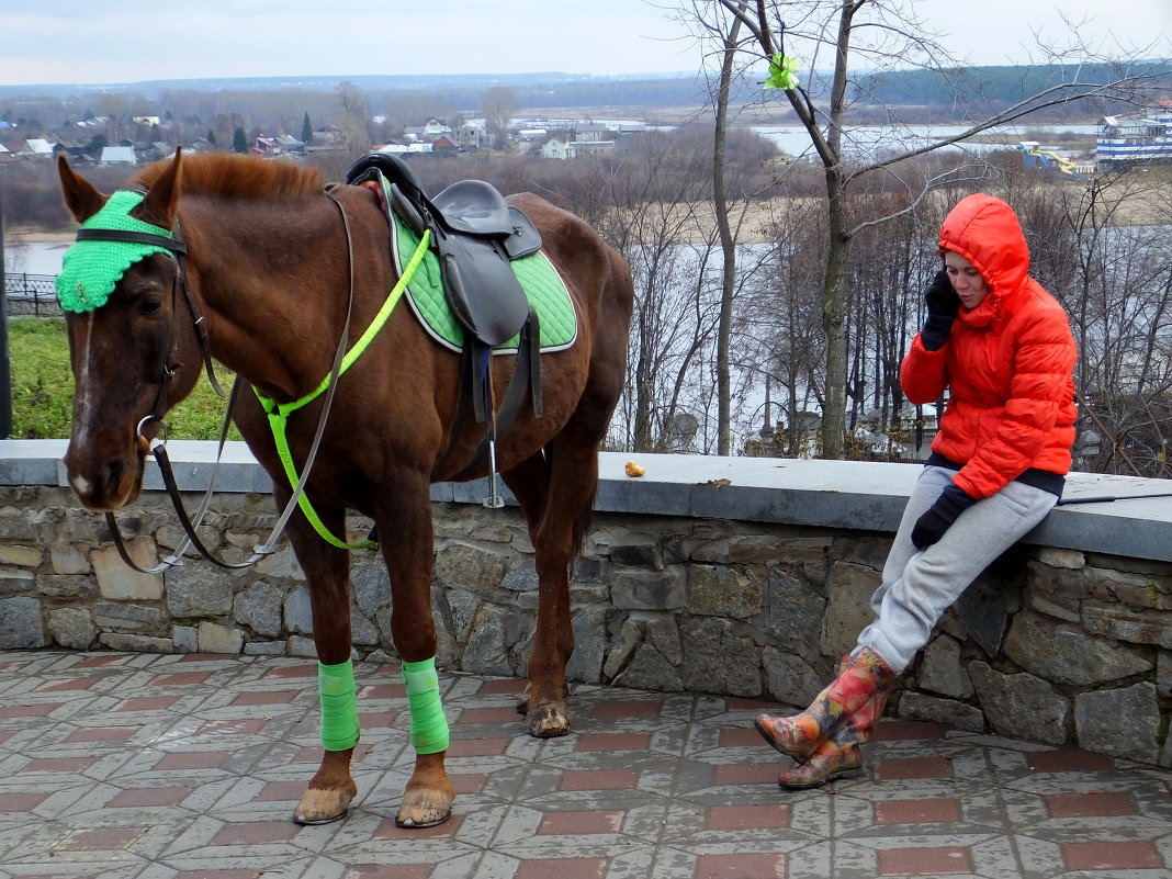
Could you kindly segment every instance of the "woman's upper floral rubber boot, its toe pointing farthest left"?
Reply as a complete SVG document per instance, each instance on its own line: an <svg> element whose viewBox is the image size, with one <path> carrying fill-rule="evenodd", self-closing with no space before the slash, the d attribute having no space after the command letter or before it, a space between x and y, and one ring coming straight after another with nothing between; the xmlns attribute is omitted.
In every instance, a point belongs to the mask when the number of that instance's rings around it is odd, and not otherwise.
<svg viewBox="0 0 1172 879"><path fill-rule="evenodd" d="M789 717L763 714L755 721L757 731L776 750L798 763L805 763L824 742L894 680L895 673L891 666L870 647L864 647L843 666L838 677L815 696L809 708Z"/></svg>

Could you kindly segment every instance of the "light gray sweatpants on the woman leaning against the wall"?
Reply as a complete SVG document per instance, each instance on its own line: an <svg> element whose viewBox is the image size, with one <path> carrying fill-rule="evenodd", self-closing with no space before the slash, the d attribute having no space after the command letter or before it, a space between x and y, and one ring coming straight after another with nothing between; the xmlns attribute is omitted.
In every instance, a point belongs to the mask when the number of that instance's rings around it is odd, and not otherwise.
<svg viewBox="0 0 1172 879"><path fill-rule="evenodd" d="M912 544L915 520L953 481L953 471L925 466L899 523L871 597L874 621L859 634L858 653L870 647L902 672L932 636L932 628L960 594L1002 552L1037 525L1057 502L1049 491L1011 482L960 515L940 541L920 552Z"/></svg>

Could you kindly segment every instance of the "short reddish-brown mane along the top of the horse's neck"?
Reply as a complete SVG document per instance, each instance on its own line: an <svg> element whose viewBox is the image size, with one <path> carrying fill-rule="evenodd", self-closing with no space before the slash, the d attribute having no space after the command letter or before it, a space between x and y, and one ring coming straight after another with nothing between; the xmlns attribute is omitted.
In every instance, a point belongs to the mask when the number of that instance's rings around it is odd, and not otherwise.
<svg viewBox="0 0 1172 879"><path fill-rule="evenodd" d="M325 176L315 166L274 162L259 156L204 152L183 157L182 189L223 198L299 199L321 195ZM150 189L172 159L154 162L132 183Z"/></svg>

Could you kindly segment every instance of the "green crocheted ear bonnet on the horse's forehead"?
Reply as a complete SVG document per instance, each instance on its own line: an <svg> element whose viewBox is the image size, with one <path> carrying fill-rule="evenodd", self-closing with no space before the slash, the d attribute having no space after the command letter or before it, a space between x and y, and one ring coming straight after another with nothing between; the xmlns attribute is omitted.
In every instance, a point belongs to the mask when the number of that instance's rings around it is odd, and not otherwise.
<svg viewBox="0 0 1172 879"><path fill-rule="evenodd" d="M143 223L130 211L143 200L139 192L115 192L97 213L81 224L82 229L114 232L141 232L171 238L171 230ZM166 253L166 247L154 244L81 240L66 251L57 275L57 299L67 312L90 312L105 305L118 279L131 265L152 253Z"/></svg>

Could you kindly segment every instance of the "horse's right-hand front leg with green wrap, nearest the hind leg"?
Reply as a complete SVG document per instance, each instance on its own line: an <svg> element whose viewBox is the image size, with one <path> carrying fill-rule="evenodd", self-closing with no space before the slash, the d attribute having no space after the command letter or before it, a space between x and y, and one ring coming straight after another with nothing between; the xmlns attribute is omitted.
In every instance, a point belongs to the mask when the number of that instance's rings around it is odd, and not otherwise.
<svg viewBox="0 0 1172 879"><path fill-rule="evenodd" d="M390 632L403 662L411 717L415 771L395 816L400 827L431 827L451 817L456 799L444 768L448 720L436 673L436 628L431 615L434 560L430 484L413 476L387 490L394 504L376 516L383 558L390 574Z"/></svg>

